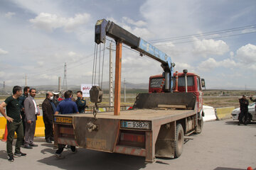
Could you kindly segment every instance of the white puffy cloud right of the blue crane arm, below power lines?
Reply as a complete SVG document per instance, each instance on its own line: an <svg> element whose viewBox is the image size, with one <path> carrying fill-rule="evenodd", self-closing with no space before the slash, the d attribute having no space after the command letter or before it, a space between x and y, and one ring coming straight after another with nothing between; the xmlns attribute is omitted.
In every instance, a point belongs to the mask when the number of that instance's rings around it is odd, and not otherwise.
<svg viewBox="0 0 256 170"><path fill-rule="evenodd" d="M193 39L195 40L195 42L193 42L193 52L200 54L203 57L206 57L207 55L223 55L225 52L229 51L227 43L223 40L198 40L198 38Z"/></svg>

